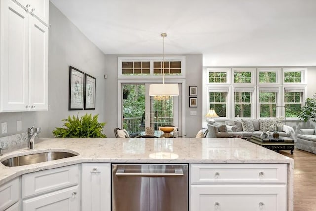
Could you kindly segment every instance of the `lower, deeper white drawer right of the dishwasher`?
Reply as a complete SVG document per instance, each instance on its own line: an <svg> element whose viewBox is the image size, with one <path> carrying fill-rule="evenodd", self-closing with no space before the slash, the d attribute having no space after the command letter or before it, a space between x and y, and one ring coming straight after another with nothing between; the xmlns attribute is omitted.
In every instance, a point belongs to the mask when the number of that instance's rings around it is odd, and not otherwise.
<svg viewBox="0 0 316 211"><path fill-rule="evenodd" d="M190 185L190 211L286 211L286 185Z"/></svg>

